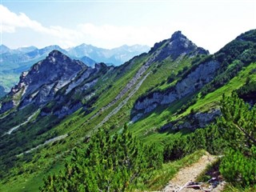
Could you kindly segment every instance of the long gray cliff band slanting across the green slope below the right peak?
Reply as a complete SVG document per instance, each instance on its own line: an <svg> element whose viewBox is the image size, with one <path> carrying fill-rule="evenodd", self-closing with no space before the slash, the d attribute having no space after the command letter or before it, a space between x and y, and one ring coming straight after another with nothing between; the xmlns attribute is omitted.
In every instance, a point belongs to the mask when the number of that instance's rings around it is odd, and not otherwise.
<svg viewBox="0 0 256 192"><path fill-rule="evenodd" d="M134 110L144 110L144 113L146 114L159 105L170 104L179 98L194 93L214 78L214 74L219 66L220 64L216 61L202 63L187 75L186 78L178 82L174 88L164 92L154 92L153 94L138 100L134 105Z"/></svg>

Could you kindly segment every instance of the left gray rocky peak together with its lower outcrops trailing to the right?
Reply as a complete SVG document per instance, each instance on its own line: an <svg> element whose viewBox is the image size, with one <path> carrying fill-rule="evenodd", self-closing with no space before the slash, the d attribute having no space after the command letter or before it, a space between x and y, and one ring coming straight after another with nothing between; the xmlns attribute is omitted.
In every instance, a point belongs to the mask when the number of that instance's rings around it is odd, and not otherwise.
<svg viewBox="0 0 256 192"><path fill-rule="evenodd" d="M72 90L77 93L94 86L98 78L91 77L111 68L104 63L95 64L95 68L91 68L54 50L44 60L34 64L29 71L22 73L18 84L12 88L6 101L1 103L0 113L14 106L21 108L31 103L35 106L43 106L53 100L61 103ZM62 94L58 94L58 90L62 89ZM73 102L67 102L65 106L54 111L54 114L62 117L78 110L78 106L82 106L82 103L74 105Z"/></svg>

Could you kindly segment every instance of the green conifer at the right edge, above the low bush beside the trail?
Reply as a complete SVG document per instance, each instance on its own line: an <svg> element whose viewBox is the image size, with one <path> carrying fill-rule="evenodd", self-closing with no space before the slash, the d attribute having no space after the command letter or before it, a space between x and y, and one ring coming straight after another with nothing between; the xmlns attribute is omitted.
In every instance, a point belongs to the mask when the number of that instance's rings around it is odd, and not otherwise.
<svg viewBox="0 0 256 192"><path fill-rule="evenodd" d="M218 121L223 137L234 150L256 146L256 106L250 107L237 94L223 95L222 118Z"/></svg>

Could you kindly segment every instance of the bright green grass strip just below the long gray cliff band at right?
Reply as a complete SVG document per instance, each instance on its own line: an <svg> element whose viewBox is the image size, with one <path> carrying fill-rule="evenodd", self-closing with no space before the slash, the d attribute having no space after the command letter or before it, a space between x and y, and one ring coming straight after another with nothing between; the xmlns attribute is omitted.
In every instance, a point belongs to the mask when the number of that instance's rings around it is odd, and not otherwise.
<svg viewBox="0 0 256 192"><path fill-rule="evenodd" d="M246 83L246 78L256 81L256 74L250 74L251 70L256 68L256 62L251 63L249 66L243 68L239 74L232 78L225 86L222 86L218 90L207 94L204 98L199 98L198 102L190 106L182 114L174 114L175 108L178 108L182 103L186 102L187 98L183 98L184 101L175 102L174 105L167 107L164 110L154 111L148 117L144 118L142 121L135 122L131 125L131 129L135 134L141 135L146 141L152 142L162 142L166 139L174 137L174 134L164 133L159 134L158 128L165 125L166 122L170 120L176 120L187 114L190 114L190 110L194 108L196 111L209 111L213 108L218 108L219 101L222 98L222 94L230 95L233 90L237 90L240 86ZM158 113L157 113L158 112ZM183 130L183 134L186 134L186 130Z"/></svg>

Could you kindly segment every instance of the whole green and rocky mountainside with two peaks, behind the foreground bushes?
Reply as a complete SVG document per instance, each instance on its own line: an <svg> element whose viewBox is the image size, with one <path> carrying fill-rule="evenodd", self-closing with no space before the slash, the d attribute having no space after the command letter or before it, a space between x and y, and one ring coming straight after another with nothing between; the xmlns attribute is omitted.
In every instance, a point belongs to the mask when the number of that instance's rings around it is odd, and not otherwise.
<svg viewBox="0 0 256 192"><path fill-rule="evenodd" d="M121 66L91 68L54 50L1 100L0 189L37 191L42 178L64 169L73 149L86 149L101 127L114 134L127 122L132 134L159 151L198 137L194 130L213 134L214 128L198 128L221 115L222 94L236 91L255 103L255 68L256 30L215 54L177 31ZM182 158L197 144L174 154Z"/></svg>

